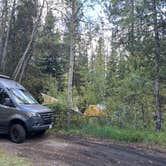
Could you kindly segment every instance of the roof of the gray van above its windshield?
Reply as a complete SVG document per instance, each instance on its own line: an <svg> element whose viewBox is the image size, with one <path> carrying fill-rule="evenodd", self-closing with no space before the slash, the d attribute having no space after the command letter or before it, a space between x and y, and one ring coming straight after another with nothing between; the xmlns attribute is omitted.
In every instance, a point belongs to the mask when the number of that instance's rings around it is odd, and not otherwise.
<svg viewBox="0 0 166 166"><path fill-rule="evenodd" d="M14 80L11 80L10 78L0 77L0 84L9 89L11 88L25 89L22 85L20 85Z"/></svg>

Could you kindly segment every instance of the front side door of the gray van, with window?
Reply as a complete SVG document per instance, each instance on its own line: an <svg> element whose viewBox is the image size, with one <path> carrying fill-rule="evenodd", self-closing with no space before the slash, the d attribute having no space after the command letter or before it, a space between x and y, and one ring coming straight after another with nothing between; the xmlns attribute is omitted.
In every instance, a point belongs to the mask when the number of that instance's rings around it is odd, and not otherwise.
<svg viewBox="0 0 166 166"><path fill-rule="evenodd" d="M9 118L14 115L16 108L9 95L0 88L0 133L8 132Z"/></svg>

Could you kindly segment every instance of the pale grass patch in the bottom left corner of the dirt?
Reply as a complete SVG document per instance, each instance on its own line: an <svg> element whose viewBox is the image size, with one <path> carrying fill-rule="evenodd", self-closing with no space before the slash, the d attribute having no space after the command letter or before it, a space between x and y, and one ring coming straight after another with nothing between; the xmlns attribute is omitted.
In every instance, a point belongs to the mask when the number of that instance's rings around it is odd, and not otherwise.
<svg viewBox="0 0 166 166"><path fill-rule="evenodd" d="M30 162L24 158L11 156L0 151L0 166L30 166Z"/></svg>

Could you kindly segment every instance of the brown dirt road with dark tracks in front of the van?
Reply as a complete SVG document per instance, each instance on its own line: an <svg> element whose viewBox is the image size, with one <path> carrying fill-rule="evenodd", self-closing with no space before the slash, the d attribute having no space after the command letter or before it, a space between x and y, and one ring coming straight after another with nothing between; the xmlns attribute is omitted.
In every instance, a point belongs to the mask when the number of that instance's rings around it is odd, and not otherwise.
<svg viewBox="0 0 166 166"><path fill-rule="evenodd" d="M33 166L166 166L165 150L92 138L46 134L14 144L0 136L0 149L30 159Z"/></svg>

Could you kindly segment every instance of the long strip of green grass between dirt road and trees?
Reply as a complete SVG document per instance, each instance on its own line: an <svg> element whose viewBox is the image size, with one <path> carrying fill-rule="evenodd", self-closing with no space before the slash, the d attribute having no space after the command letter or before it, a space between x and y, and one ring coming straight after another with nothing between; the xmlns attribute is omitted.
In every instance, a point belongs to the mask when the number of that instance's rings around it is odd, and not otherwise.
<svg viewBox="0 0 166 166"><path fill-rule="evenodd" d="M166 132L144 131L136 129L118 128L113 126L83 125L81 128L71 127L60 131L68 135L92 136L110 138L126 142L158 144L166 147Z"/></svg>

